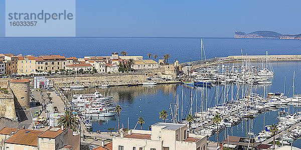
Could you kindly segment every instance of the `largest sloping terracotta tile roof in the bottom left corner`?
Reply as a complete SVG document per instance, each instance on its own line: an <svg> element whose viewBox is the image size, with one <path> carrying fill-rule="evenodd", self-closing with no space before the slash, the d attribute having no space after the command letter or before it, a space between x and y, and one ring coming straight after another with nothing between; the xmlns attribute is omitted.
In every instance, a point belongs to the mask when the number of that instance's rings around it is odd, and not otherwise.
<svg viewBox="0 0 301 150"><path fill-rule="evenodd" d="M38 146L38 135L43 131L32 129L18 129L15 134L8 138L6 143Z"/></svg>

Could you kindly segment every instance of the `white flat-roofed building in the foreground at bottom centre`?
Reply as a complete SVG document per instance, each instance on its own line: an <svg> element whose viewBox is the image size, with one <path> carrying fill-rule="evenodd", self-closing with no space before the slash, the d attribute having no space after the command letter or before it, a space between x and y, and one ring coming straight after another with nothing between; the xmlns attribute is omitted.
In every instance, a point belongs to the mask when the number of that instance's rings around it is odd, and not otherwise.
<svg viewBox="0 0 301 150"><path fill-rule="evenodd" d="M151 130L131 129L113 137L112 149L205 150L207 136L188 133L187 124L158 122Z"/></svg>

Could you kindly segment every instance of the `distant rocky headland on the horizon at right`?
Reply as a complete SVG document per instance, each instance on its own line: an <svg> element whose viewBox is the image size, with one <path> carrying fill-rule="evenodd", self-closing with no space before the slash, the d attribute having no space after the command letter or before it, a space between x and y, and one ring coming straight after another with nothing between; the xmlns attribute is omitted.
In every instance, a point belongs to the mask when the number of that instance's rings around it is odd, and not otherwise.
<svg viewBox="0 0 301 150"><path fill-rule="evenodd" d="M278 39L300 39L301 34L289 35L280 34L274 31L254 31L250 33L245 33L241 31L234 32L234 38L278 38Z"/></svg>

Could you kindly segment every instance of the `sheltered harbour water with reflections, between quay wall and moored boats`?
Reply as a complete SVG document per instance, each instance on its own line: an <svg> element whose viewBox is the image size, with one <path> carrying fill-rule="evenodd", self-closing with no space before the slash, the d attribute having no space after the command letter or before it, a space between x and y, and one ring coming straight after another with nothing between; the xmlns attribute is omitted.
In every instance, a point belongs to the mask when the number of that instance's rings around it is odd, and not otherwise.
<svg viewBox="0 0 301 150"><path fill-rule="evenodd" d="M286 78L286 94L288 96L292 95L292 75L295 71L295 88L294 93L301 93L301 86L299 80L301 79L301 62L272 62L275 75L271 78L272 84L268 85L250 85L249 88L252 89L252 92L259 93L264 95L264 88L267 92L283 92L284 91L284 76ZM216 95L216 88L219 90L218 96ZM143 124L143 129L148 129L148 126L158 122L163 121L159 118L159 112L163 109L169 111L170 103L176 102L176 96L179 94L180 103L182 102L183 97L183 115L182 115L182 106L180 106L179 118L185 118L188 114L188 111L192 107L193 112L197 109L198 111L202 110L202 106L206 109L206 106L212 107L216 105L217 102L223 103L227 101L224 97L228 97L228 100L231 100L231 92L224 92L225 85L213 86L211 88L206 87L194 87L186 86L181 84L158 84L156 86L111 86L107 88L85 88L82 90L75 91L66 91L67 97L71 98L73 93L91 93L95 90L98 90L104 96L114 96L111 100L114 104L119 104L122 107L120 114L120 126L133 128L137 122L138 117L144 117L145 123ZM227 89L227 88L226 88ZM230 88L231 89L231 88ZM182 95L183 90L183 95ZM200 96L201 93L203 96ZM207 94L206 95L206 90ZM231 90L230 90L231 91ZM238 91L238 92L237 92ZM191 93L195 96L198 94L198 100L195 101L191 106ZM267 95L265 93L265 95ZM233 98L241 97L241 86L233 86ZM201 98L206 99L201 102ZM194 100L196 98L194 97ZM207 103L206 103L207 101ZM288 110L288 108L285 108ZM289 108L290 112L299 111L299 106L296 104L294 107ZM300 109L301 111L301 109ZM237 136L247 136L247 132L252 131L255 134L260 132L264 125L272 124L278 122L277 119L278 109L274 109L268 112L263 112L258 114L254 119L243 120L236 126L229 127L224 129L219 134L219 139L223 140L228 134L237 135ZM98 118L92 119L93 121L93 130L105 131L107 128L116 128L117 127L117 116L112 118ZM167 121L171 120L171 114ZM216 134L211 136L210 140L216 140ZM295 141L294 145L300 145L300 141Z"/></svg>

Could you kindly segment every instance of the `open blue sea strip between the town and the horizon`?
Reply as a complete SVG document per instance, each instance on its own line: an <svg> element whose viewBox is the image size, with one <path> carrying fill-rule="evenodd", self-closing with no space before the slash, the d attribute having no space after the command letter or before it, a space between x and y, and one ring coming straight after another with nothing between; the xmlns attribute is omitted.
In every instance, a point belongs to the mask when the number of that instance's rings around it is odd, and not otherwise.
<svg viewBox="0 0 301 150"><path fill-rule="evenodd" d="M204 38L207 58L239 55L243 53L262 54L301 54L300 40L285 39L239 39ZM14 54L60 54L65 56L99 56L111 52L127 51L129 55L157 54L158 58L169 53L173 62L200 59L199 38L102 38L102 37L64 37L64 38L16 38L0 37L0 53Z"/></svg>

